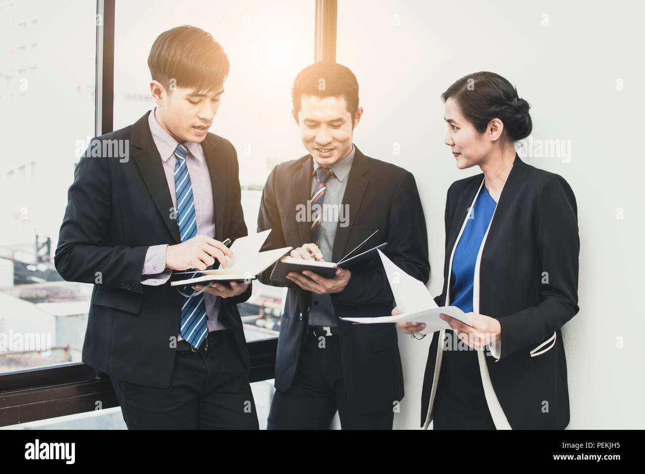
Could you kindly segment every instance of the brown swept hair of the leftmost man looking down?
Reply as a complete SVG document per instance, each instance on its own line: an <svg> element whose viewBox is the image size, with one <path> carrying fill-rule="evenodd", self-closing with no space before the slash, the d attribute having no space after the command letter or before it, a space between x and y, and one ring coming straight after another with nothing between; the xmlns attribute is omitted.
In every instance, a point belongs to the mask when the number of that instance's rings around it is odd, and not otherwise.
<svg viewBox="0 0 645 474"><path fill-rule="evenodd" d="M228 56L212 35L196 26L183 25L163 32L155 39L148 67L154 81L159 81L168 94L173 88L190 87L201 92L221 88L228 75Z"/></svg>

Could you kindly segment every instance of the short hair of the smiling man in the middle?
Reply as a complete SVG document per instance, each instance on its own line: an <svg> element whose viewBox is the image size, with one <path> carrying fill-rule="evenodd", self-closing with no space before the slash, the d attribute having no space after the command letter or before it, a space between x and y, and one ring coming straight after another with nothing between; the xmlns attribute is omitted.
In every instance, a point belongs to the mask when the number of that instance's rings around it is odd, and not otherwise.
<svg viewBox="0 0 645 474"><path fill-rule="evenodd" d="M345 66L331 61L319 61L307 66L295 76L291 97L293 110L300 112L303 95L315 97L344 97L347 110L354 116L359 108L359 83Z"/></svg>

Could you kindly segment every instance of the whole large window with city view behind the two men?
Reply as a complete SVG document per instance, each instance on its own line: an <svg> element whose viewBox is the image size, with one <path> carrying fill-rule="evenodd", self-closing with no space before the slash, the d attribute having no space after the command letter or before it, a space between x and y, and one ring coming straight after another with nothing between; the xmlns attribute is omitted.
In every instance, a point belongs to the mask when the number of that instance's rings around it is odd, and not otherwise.
<svg viewBox="0 0 645 474"><path fill-rule="evenodd" d="M92 285L63 281L53 254L66 192L95 126L115 130L152 108L146 63L159 33L182 24L201 26L230 58L223 106L211 132L237 150L250 232L270 170L305 153L290 114L290 90L297 72L313 61L313 1L290 0L280 10L249 1L236 6L200 1L192 3L193 13L170 1L150 5L103 0L97 15L97 5L75 0L66 3L63 14L60 4L45 0L0 0L6 26L0 31L0 108L10 111L0 125L15 143L32 145L12 154L14 159L3 161L0 169L0 197L10 203L0 216L5 224L0 235L0 424L43 420L45 426L74 414L79 415L75 420L88 419L99 403L105 415L118 410L110 380L79 363ZM141 18L146 18L143 25L137 21ZM98 62L97 46L104 55ZM103 83L97 84L96 77ZM102 122L95 121L96 115ZM293 135L286 136L287 130ZM241 312L247 340L254 341L248 345L249 378L263 426L273 393L275 322L283 293L254 287ZM37 409L23 410L27 404Z"/></svg>

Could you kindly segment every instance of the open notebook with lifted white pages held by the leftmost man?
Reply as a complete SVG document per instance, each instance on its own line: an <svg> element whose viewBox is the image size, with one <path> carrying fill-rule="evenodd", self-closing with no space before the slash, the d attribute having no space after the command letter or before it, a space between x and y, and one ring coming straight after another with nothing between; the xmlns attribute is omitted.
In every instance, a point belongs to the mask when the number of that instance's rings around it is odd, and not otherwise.
<svg viewBox="0 0 645 474"><path fill-rule="evenodd" d="M283 257L285 253L292 250L292 247L277 248L260 252L266 237L271 229L254 235L240 237L231 246L235 259L226 257L228 266L217 270L192 270L187 272L175 272L173 277L178 278L170 283L171 286L183 286L199 282L230 282L250 281L257 279L257 276L269 268L273 263Z"/></svg>

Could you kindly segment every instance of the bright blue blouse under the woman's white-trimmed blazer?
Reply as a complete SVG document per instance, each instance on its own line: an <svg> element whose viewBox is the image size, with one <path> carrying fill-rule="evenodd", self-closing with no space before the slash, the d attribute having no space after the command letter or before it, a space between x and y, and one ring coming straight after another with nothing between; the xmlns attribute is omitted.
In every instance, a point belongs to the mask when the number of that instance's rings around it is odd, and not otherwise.
<svg viewBox="0 0 645 474"><path fill-rule="evenodd" d="M495 206L497 202L490 197L486 186L482 186L453 255L450 275L450 281L453 282L450 287L451 306L457 306L464 313L473 311L475 262Z"/></svg>

